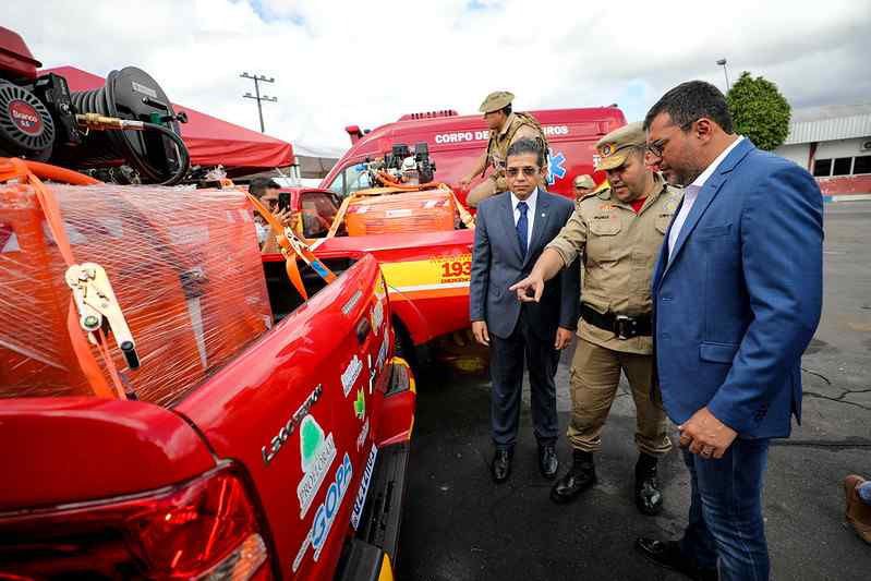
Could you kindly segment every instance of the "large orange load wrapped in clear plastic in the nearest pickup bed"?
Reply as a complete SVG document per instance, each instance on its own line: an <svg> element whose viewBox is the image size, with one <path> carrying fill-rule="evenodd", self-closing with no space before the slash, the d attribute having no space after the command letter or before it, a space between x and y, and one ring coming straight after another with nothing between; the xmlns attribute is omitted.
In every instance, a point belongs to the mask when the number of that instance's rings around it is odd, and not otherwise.
<svg viewBox="0 0 871 581"><path fill-rule="evenodd" d="M129 370L108 341L129 394L171 406L270 327L242 192L49 186L75 262L106 269L136 342L141 366ZM70 339L65 269L33 187L0 184L0 397L92 395Z"/></svg>

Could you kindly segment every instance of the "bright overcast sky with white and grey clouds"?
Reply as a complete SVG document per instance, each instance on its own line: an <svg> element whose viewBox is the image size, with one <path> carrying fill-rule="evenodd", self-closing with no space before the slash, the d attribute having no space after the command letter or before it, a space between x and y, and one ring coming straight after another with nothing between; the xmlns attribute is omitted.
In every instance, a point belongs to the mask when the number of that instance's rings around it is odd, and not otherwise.
<svg viewBox="0 0 871 581"><path fill-rule="evenodd" d="M8 3L2 25L45 66L106 75L137 65L170 98L258 129L243 71L274 76L267 133L343 150L343 128L433 109L477 110L491 90L518 110L617 102L643 118L690 78L741 71L794 108L871 100L866 0L110 0ZM124 8L122 8L124 7Z"/></svg>

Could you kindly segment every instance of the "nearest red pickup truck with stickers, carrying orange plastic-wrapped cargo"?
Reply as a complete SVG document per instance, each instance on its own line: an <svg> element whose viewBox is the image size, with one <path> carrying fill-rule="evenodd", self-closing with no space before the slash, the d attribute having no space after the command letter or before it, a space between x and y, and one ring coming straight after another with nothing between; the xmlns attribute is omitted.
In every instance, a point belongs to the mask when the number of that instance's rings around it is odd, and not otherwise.
<svg viewBox="0 0 871 581"><path fill-rule="evenodd" d="M95 397L61 385L83 331L52 318L70 302L57 237L29 185L0 184L0 579L391 579L415 389L376 261L346 257L303 302L268 264L264 278L241 192L136 190L59 194L141 360L114 353L133 387Z"/></svg>

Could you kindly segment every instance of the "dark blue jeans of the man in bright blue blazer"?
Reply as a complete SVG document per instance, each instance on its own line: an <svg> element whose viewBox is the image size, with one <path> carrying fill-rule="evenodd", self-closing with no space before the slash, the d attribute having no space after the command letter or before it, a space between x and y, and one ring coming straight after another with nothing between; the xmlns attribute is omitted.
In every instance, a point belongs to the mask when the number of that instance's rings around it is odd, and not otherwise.
<svg viewBox="0 0 871 581"><path fill-rule="evenodd" d="M769 579L769 547L762 519L767 457L767 439L736 438L718 460L684 449L691 497L689 524L680 549L700 567L713 569L719 560L723 581Z"/></svg>

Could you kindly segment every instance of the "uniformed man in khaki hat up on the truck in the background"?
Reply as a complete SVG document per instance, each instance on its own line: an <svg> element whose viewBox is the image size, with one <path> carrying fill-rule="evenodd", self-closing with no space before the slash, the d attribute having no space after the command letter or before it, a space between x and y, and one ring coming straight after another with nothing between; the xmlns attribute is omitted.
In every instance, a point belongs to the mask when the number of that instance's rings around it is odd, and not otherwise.
<svg viewBox="0 0 871 581"><path fill-rule="evenodd" d="M530 113L512 112L512 100L515 100L512 93L497 90L487 95L479 108L489 128L489 141L470 173L460 180L460 185L468 187L471 181L483 174L488 167L493 167L493 172L469 192L465 203L472 207L477 206L484 198L508 190L508 183L505 181L505 160L508 147L512 143L523 138L540 140L544 152L547 152L547 140L544 137L542 125Z"/></svg>

